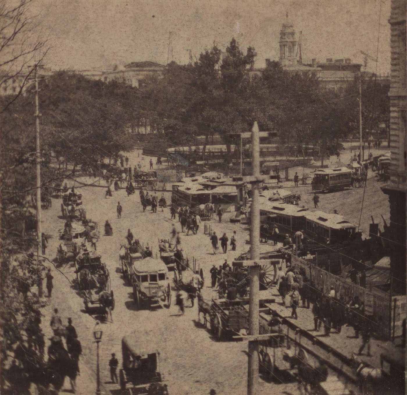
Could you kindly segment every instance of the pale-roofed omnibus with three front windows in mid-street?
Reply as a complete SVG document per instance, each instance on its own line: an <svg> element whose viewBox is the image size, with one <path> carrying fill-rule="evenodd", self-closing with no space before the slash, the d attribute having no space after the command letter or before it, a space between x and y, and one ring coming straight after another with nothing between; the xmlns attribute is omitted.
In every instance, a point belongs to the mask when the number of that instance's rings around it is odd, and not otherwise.
<svg viewBox="0 0 407 395"><path fill-rule="evenodd" d="M144 258L131 266L131 284L137 309L149 308L165 303L171 306L171 286L168 268L160 259Z"/></svg>

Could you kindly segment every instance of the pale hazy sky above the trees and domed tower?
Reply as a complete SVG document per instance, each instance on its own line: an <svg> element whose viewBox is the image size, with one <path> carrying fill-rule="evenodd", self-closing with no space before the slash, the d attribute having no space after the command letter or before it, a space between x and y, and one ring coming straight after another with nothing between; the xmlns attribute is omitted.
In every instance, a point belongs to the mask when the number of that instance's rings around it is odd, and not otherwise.
<svg viewBox="0 0 407 395"><path fill-rule="evenodd" d="M45 63L53 68L105 69L115 63L150 60L188 62L215 42L225 49L232 37L254 46L256 67L278 59L282 22L289 13L302 31L305 61L350 57L363 63L377 55L378 73L389 72L390 0L34 0L43 31L49 34ZM171 61L171 55L170 55ZM374 71L376 63L368 62Z"/></svg>

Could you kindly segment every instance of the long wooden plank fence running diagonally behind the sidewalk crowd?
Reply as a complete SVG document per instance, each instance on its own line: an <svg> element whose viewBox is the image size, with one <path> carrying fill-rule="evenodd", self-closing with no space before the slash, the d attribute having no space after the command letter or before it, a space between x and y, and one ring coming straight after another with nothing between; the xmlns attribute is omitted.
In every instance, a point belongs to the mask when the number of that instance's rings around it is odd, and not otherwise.
<svg viewBox="0 0 407 395"><path fill-rule="evenodd" d="M392 336L394 331L392 321L395 320L392 320L392 299L390 295L371 292L294 255L291 257L291 264L304 268L306 276L311 280L313 287L324 295L328 295L330 287L334 287L337 298L344 297L345 300L348 300L348 298L354 299L355 296L359 297L359 300L365 306L365 315L374 317L373 321L376 324L374 332L385 338ZM400 298L399 300L401 302Z"/></svg>

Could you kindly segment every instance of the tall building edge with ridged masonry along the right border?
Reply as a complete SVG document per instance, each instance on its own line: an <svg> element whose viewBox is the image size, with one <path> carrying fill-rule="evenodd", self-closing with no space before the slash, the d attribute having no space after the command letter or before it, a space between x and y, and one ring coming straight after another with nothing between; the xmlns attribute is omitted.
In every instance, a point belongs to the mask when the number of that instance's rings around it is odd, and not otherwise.
<svg viewBox="0 0 407 395"><path fill-rule="evenodd" d="M405 294L406 281L406 8L407 0L392 0L390 13L390 225L385 237L390 251L393 291Z"/></svg>

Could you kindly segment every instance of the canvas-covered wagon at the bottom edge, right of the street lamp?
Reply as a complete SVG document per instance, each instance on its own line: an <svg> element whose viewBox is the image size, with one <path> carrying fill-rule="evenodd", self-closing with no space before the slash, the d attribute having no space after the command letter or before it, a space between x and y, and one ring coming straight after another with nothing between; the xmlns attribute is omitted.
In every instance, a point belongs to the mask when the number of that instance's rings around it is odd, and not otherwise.
<svg viewBox="0 0 407 395"><path fill-rule="evenodd" d="M160 352L149 334L133 333L122 339L123 365L119 371L120 389L131 383L138 394L168 395L159 370Z"/></svg>

